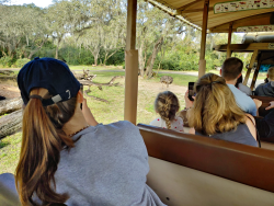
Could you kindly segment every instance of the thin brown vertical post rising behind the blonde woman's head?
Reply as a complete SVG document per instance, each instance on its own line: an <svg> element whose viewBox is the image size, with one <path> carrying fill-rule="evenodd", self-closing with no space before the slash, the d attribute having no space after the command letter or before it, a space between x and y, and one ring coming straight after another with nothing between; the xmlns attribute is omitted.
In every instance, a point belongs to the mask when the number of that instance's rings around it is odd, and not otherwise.
<svg viewBox="0 0 274 206"><path fill-rule="evenodd" d="M198 61L198 78L204 76L205 70L206 70L205 49L206 49L206 31L207 31L207 19L208 19L208 5L209 5L209 0L205 0L205 2L204 2L204 13L203 13L201 52L199 52L199 61Z"/></svg>

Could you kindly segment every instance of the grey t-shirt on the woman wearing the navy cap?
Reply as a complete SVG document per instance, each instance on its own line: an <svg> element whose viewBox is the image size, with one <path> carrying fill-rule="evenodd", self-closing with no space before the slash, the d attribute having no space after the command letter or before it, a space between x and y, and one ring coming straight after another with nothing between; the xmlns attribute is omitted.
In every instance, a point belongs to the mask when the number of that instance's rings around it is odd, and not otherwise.
<svg viewBox="0 0 274 206"><path fill-rule="evenodd" d="M99 124L75 135L75 148L62 150L55 173L57 193L69 206L158 206L146 184L148 153L138 127L129 122Z"/></svg>

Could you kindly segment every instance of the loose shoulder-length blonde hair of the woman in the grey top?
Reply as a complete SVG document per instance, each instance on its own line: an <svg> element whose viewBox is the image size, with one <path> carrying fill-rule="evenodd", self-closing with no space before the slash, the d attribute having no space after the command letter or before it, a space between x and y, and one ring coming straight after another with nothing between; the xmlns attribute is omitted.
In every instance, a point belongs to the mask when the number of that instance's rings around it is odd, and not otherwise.
<svg viewBox="0 0 274 206"><path fill-rule="evenodd" d="M244 112L222 77L206 73L195 84L196 98L187 112L189 124L203 135L236 129L246 123Z"/></svg>

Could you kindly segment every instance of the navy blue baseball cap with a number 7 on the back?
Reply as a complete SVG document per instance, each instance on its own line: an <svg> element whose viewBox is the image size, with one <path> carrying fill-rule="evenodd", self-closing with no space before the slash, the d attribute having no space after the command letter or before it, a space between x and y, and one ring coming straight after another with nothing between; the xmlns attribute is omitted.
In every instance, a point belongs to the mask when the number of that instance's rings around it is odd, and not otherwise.
<svg viewBox="0 0 274 206"><path fill-rule="evenodd" d="M50 99L42 100L43 106L67 101L80 90L80 82L64 61L38 57L19 71L18 85L25 105L34 88L45 88L52 95Z"/></svg>

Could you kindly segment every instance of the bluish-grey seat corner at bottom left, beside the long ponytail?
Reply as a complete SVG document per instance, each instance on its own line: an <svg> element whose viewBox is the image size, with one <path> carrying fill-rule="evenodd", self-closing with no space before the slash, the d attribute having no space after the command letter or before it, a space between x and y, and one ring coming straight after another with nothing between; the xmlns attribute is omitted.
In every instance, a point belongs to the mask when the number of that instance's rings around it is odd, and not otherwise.
<svg viewBox="0 0 274 206"><path fill-rule="evenodd" d="M11 173L0 174L0 205L16 206L21 205L15 187L14 175Z"/></svg>

